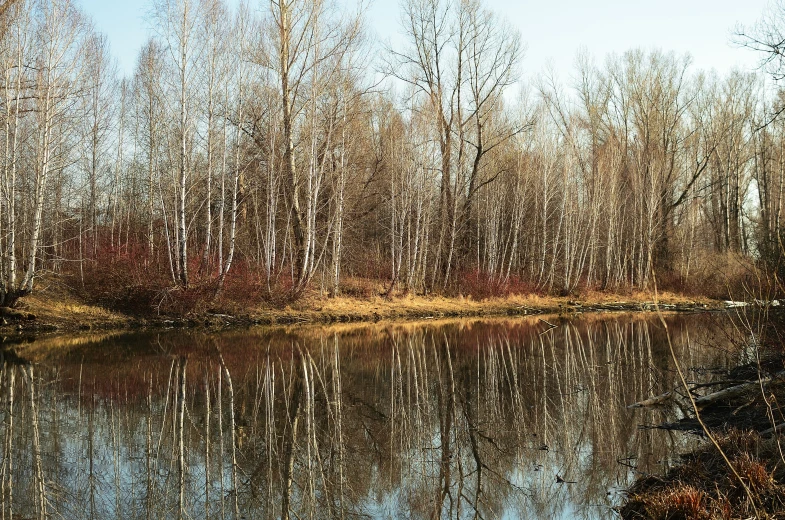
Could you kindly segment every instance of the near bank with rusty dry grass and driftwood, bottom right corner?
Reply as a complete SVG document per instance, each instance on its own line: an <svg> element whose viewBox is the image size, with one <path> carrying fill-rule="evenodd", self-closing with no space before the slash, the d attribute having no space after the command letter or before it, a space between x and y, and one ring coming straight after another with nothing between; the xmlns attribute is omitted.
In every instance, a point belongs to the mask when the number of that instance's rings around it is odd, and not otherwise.
<svg viewBox="0 0 785 520"><path fill-rule="evenodd" d="M746 363L684 383L689 392L682 385L628 407L674 406L682 417L657 427L705 442L666 473L642 474L618 509L621 518L785 518L782 319L771 314L754 327L740 320L748 333L734 343Z"/></svg>

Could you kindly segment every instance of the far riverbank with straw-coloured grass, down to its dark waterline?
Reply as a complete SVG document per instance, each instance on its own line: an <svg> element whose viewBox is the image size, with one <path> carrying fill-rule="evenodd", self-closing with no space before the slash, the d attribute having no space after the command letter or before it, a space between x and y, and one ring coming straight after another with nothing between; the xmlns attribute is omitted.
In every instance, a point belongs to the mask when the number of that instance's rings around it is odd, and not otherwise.
<svg viewBox="0 0 785 520"><path fill-rule="evenodd" d="M678 294L658 295L662 310L694 312L719 310L723 302L695 299ZM583 312L655 310L654 294L636 292L619 295L591 292L580 297L514 295L474 300L441 296L319 297L310 295L288 305L226 305L183 316L135 316L91 305L72 292L52 284L23 299L17 309L2 316L0 332L73 332L122 330L146 327L231 328L252 325L297 323L355 323L430 320L439 318L526 316L537 314L574 315ZM2 312L0 311L0 314Z"/></svg>

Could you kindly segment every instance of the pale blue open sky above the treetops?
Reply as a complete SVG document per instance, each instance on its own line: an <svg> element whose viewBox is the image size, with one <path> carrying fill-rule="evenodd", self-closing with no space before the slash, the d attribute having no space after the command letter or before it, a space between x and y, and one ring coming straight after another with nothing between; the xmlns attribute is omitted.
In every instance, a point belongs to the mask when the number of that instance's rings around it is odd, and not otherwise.
<svg viewBox="0 0 785 520"><path fill-rule="evenodd" d="M252 5L253 5L253 0ZM145 13L150 0L77 0L96 28L105 33L120 71L131 75L148 37ZM339 0L354 5L351 0ZM229 0L236 4L237 0ZM257 0L266 5L266 0ZM689 53L693 66L724 74L754 70L759 56L731 43L734 27L752 25L767 0L485 0L485 5L516 27L526 43L524 79L545 70L569 81L576 55L585 49L601 63L610 53L633 48ZM399 38L397 0L371 0L368 27L375 39Z"/></svg>

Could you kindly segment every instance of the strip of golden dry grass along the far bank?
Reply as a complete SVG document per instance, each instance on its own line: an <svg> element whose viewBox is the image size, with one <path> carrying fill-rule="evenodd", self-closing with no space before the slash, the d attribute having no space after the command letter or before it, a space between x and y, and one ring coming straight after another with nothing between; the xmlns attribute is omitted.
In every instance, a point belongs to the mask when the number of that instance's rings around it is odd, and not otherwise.
<svg viewBox="0 0 785 520"><path fill-rule="evenodd" d="M368 283L357 284L367 287ZM201 310L187 314L172 314L169 318L184 318L190 322L205 323L211 316L231 316L240 323L335 323L378 322L391 320L436 320L440 318L468 318L488 316L520 316L525 314L570 314L576 311L603 310L592 306L611 305L616 310L639 310L650 304L654 295L646 292L629 292L624 295L599 291L585 291L572 297L552 297L539 294L520 294L492 297L482 300L471 296L416 296L398 294L391 298L381 296L380 287L356 292L353 295L329 298L317 291L307 293L288 305L256 300L256 304L241 304L225 300L202 305ZM662 303L694 305L708 303L672 293L659 295ZM36 315L36 324L59 330L125 328L130 324L145 323L141 316L112 312L99 304L87 303L78 291L63 285L58 278L42 279L37 290L21 302L21 307ZM129 311L130 312L130 311ZM161 319L169 319L161 316ZM157 317L153 316L153 320ZM220 321L220 320L219 320ZM12 324L13 325L13 324ZM25 325L27 328L27 325ZM33 326L35 328L35 326Z"/></svg>

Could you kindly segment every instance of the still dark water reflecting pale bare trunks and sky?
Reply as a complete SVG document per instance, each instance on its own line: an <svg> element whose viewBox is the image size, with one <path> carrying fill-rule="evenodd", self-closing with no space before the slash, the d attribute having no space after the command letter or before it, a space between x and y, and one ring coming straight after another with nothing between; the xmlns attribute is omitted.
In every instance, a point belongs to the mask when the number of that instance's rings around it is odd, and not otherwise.
<svg viewBox="0 0 785 520"><path fill-rule="evenodd" d="M722 317L666 318L694 379ZM613 518L694 442L652 315L7 345L2 518ZM672 418L672 417L671 417Z"/></svg>

